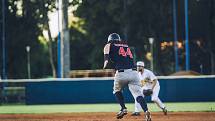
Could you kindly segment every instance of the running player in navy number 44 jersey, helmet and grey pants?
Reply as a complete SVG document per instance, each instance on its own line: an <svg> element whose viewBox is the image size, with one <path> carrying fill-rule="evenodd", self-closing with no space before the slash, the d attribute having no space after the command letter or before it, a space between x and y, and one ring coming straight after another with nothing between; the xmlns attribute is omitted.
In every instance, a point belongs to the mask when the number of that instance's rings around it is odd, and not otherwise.
<svg viewBox="0 0 215 121"><path fill-rule="evenodd" d="M117 33L108 36L108 42L104 47L103 69L107 67L109 61L113 62L116 70L113 94L121 106L121 110L116 115L117 119L123 118L128 113L122 94L123 88L128 85L136 102L144 110L146 121L151 121L151 115L141 91L140 78L134 65L133 55L126 41L122 41Z"/></svg>

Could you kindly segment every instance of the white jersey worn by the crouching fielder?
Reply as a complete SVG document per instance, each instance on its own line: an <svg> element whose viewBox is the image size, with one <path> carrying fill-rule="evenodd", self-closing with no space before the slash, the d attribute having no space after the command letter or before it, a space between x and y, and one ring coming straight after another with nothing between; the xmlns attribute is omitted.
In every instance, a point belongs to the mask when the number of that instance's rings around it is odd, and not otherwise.
<svg viewBox="0 0 215 121"><path fill-rule="evenodd" d="M154 73L148 69L144 69L143 74L139 73L139 76L144 89L152 89L153 81L157 80Z"/></svg>

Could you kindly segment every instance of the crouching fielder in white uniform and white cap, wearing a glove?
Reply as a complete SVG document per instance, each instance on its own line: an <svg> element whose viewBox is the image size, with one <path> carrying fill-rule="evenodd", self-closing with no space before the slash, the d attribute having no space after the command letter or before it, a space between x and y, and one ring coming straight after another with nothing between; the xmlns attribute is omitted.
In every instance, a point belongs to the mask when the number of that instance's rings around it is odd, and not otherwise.
<svg viewBox="0 0 215 121"><path fill-rule="evenodd" d="M145 96L151 96L151 100L157 104L159 108L162 109L164 115L167 115L167 109L165 105L161 102L158 97L160 91L160 84L157 77L153 74L152 71L144 68L144 62L137 62L137 71L142 83L143 94ZM141 106L135 100L135 112L132 113L132 116L139 116L141 111Z"/></svg>

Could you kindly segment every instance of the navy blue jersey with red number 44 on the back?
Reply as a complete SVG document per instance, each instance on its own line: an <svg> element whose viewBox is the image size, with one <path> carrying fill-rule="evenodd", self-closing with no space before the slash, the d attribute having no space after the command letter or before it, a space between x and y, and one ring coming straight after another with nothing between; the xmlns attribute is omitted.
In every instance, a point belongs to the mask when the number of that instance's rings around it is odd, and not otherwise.
<svg viewBox="0 0 215 121"><path fill-rule="evenodd" d="M109 57L116 70L135 67L132 52L125 43L111 43Z"/></svg>

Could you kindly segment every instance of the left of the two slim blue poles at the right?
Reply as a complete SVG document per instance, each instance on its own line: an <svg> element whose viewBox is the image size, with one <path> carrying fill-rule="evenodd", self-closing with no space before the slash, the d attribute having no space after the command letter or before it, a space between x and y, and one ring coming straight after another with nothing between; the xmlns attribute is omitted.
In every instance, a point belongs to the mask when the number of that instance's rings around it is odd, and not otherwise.
<svg viewBox="0 0 215 121"><path fill-rule="evenodd" d="M175 50L175 71L179 71L178 67L178 34L177 34L177 9L176 0L173 0L173 31L174 31L174 50Z"/></svg>

